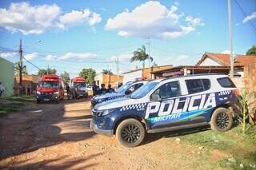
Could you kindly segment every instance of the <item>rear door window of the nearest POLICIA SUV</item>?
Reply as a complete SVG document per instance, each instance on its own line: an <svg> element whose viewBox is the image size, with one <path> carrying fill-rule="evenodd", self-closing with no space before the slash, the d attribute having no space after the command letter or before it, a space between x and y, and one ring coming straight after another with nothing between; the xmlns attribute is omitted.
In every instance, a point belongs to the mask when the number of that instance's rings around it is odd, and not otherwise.
<svg viewBox="0 0 256 170"><path fill-rule="evenodd" d="M186 80L186 87L189 94L200 93L210 89L209 79Z"/></svg>

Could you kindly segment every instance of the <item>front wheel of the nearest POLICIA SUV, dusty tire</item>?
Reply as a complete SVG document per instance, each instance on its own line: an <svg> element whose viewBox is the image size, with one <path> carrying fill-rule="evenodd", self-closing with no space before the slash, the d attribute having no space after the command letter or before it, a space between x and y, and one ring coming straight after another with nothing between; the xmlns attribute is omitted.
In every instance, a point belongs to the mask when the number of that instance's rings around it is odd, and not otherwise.
<svg viewBox="0 0 256 170"><path fill-rule="evenodd" d="M132 148L142 143L145 137L145 128L136 119L126 119L118 125L115 136L120 144Z"/></svg>

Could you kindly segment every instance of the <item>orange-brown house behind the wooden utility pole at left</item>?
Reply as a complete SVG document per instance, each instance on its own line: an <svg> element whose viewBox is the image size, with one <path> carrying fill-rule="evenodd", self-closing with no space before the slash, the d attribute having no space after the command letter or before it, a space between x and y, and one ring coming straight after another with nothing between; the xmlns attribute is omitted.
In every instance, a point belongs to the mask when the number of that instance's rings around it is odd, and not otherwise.
<svg viewBox="0 0 256 170"><path fill-rule="evenodd" d="M18 94L18 86L19 86L19 75L15 75L15 86L14 93ZM30 88L30 93L35 93L37 89L38 82L40 81L40 77L34 74L22 75L22 86L23 93L27 94L27 89Z"/></svg>

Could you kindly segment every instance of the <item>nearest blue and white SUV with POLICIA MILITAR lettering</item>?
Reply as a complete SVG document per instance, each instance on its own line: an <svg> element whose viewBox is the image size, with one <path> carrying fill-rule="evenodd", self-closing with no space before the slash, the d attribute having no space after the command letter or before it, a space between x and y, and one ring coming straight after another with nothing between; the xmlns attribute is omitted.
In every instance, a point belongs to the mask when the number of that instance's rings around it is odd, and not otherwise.
<svg viewBox="0 0 256 170"><path fill-rule="evenodd" d="M226 75L206 74L148 82L122 100L96 105L90 127L115 135L120 144L141 144L146 132L210 125L224 132L233 124L238 89Z"/></svg>

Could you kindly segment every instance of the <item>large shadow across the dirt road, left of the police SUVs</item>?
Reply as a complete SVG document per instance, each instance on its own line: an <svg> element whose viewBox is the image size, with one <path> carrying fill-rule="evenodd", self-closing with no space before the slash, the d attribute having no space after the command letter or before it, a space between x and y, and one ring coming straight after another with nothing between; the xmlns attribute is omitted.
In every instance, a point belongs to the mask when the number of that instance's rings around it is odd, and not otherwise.
<svg viewBox="0 0 256 170"><path fill-rule="evenodd" d="M64 100L60 104L39 104L30 109L42 110L39 113L21 111L12 113L0 120L0 160L21 153L33 152L39 148L49 147L62 142L86 140L94 136L90 131L90 115L88 109L76 109L74 117L64 117L65 105L84 103L90 98L80 100ZM62 128L86 129L76 132L62 132ZM65 168L65 167L64 167Z"/></svg>

